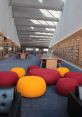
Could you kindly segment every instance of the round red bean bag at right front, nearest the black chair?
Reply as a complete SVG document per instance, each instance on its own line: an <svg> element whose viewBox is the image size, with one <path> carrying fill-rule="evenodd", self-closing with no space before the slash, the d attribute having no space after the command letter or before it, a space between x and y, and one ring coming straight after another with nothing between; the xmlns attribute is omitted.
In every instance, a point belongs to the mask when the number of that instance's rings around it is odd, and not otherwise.
<svg viewBox="0 0 82 117"><path fill-rule="evenodd" d="M62 78L56 83L56 91L64 96L67 96L69 92L75 91L78 86L78 82L72 78Z"/></svg>

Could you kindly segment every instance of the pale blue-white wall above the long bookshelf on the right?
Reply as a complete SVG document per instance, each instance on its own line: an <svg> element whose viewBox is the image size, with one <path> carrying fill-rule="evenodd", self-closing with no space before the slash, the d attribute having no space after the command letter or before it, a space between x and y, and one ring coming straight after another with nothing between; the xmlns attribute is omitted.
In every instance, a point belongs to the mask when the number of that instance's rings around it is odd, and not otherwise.
<svg viewBox="0 0 82 117"><path fill-rule="evenodd" d="M82 28L82 0L65 0L62 16L49 47Z"/></svg>

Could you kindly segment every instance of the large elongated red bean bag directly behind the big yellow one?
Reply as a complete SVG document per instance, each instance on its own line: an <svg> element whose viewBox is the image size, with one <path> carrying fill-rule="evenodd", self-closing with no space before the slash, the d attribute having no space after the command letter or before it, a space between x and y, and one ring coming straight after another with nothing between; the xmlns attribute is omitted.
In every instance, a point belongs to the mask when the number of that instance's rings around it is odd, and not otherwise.
<svg viewBox="0 0 82 117"><path fill-rule="evenodd" d="M29 71L29 75L42 77L47 85L55 84L58 78L60 78L60 74L58 71L52 69L42 69L42 68L31 69Z"/></svg>

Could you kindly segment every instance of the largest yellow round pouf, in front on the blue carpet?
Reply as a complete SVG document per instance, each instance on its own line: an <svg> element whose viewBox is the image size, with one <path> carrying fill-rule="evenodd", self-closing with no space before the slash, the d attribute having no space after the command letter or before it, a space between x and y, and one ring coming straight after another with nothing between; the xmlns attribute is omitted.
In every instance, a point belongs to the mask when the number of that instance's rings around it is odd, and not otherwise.
<svg viewBox="0 0 82 117"><path fill-rule="evenodd" d="M39 97L45 93L46 83L41 77L25 76L19 79L17 91L24 97Z"/></svg>

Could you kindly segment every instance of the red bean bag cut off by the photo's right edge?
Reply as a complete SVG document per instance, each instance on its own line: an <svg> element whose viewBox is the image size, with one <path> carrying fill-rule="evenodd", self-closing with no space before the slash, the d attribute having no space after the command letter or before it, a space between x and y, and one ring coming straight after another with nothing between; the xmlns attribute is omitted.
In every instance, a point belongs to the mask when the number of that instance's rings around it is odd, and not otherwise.
<svg viewBox="0 0 82 117"><path fill-rule="evenodd" d="M65 77L76 79L79 85L82 85L82 73L81 72L68 72Z"/></svg>

